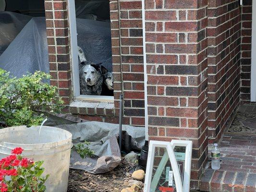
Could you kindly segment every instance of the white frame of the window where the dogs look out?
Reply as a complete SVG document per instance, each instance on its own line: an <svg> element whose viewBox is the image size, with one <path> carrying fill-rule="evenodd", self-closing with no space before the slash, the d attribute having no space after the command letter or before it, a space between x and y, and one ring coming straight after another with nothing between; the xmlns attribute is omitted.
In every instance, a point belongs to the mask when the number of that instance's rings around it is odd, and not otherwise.
<svg viewBox="0 0 256 192"><path fill-rule="evenodd" d="M71 54L70 61L71 61L71 67L72 67L72 82L73 82L73 100L113 103L114 96L87 96L87 95L80 94L77 31L76 31L76 16L75 16L74 0L68 0L68 19L69 19L69 34L70 34L70 54Z"/></svg>

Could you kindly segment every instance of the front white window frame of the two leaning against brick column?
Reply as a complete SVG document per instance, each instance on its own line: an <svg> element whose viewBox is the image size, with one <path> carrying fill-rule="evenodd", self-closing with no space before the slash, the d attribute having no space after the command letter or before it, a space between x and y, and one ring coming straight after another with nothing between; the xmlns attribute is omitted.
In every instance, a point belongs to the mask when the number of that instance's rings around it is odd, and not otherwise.
<svg viewBox="0 0 256 192"><path fill-rule="evenodd" d="M173 152L171 143L170 142L162 142L162 141L150 141L149 142L148 157L147 157L147 163L146 163L146 176L145 176L144 192L150 192L151 177L152 177L152 172L153 172L156 147L166 148L167 153L168 153L168 154L165 153L164 156L168 155L168 157L161 159L158 168L164 167L166 165L168 159L170 159L171 168L173 170L173 176L174 176L174 180L175 180L176 190L177 190L177 192L183 192L181 174L180 174L180 170L179 170L177 160L176 160L175 154ZM167 159L167 161L166 161L166 159ZM173 161L173 159L175 159L175 160ZM158 170L158 168L157 168L157 170ZM160 172L162 173L162 171L160 171ZM159 180L160 176L161 175L155 174L153 180Z"/></svg>

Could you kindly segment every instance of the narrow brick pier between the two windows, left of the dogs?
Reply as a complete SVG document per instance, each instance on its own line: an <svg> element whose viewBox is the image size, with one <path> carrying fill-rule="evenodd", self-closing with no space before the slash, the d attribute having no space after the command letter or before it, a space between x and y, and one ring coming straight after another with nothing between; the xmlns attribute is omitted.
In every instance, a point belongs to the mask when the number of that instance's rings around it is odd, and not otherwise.
<svg viewBox="0 0 256 192"><path fill-rule="evenodd" d="M71 65L66 0L45 0L47 41L51 85L58 87L59 96L69 111L72 101Z"/></svg>

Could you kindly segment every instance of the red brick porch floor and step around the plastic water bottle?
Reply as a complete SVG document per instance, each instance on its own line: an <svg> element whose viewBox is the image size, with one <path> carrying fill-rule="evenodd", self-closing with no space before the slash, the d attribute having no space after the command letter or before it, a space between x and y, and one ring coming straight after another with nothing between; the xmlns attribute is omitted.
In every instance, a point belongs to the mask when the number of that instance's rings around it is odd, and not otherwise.
<svg viewBox="0 0 256 192"><path fill-rule="evenodd" d="M256 107L239 108L254 112ZM256 136L225 133L219 142L221 166L212 170L210 162L202 175L200 191L256 192ZM209 152L211 146L209 146Z"/></svg>

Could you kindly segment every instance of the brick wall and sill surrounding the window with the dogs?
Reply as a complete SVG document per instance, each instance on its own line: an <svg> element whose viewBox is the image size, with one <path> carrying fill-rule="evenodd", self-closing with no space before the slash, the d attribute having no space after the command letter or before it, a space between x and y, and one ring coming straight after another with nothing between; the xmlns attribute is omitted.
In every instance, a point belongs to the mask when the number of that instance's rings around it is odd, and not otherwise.
<svg viewBox="0 0 256 192"><path fill-rule="evenodd" d="M124 95L125 124L144 125L144 71L141 1L110 0L114 103L73 102L67 0L45 0L51 84L64 101L64 112L85 120L118 123ZM121 48L120 48L121 46ZM122 64L121 64L122 63Z"/></svg>

